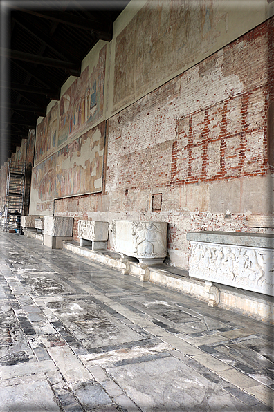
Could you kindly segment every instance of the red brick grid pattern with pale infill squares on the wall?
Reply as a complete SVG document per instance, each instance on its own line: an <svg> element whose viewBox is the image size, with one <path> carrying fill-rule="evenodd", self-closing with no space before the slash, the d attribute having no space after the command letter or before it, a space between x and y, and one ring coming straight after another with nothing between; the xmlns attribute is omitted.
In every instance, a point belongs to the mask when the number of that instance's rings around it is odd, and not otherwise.
<svg viewBox="0 0 274 412"><path fill-rule="evenodd" d="M266 86L177 120L171 184L268 171Z"/></svg>

